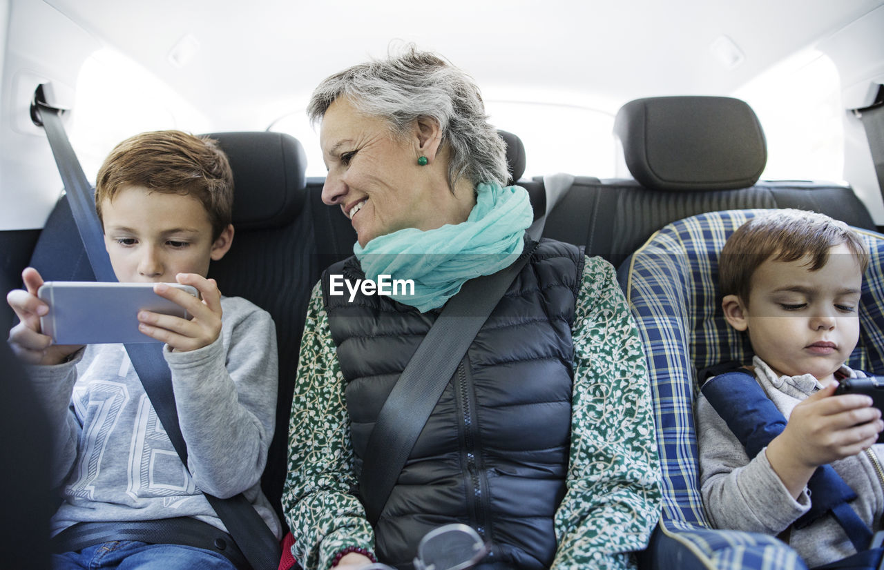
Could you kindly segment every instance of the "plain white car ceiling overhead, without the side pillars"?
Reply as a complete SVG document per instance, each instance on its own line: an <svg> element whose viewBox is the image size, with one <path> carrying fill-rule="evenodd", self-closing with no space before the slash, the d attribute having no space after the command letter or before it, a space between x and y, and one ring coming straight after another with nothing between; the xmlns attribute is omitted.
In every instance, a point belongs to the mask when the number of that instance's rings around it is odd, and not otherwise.
<svg viewBox="0 0 884 570"><path fill-rule="evenodd" d="M45 0L231 128L263 127L331 72L415 42L486 96L616 110L648 95L731 93L884 0ZM199 44L182 67L170 50ZM728 69L711 44L743 51ZM568 94L568 95L554 95ZM579 104L579 103L578 103ZM275 116L274 116L275 114Z"/></svg>

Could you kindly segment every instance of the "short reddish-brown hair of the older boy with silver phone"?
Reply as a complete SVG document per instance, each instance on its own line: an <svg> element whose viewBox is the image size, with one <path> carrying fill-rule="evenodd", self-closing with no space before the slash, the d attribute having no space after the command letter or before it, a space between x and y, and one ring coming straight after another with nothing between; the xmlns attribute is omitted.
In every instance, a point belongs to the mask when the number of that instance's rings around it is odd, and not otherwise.
<svg viewBox="0 0 884 570"><path fill-rule="evenodd" d="M233 172L217 141L208 137L154 131L120 142L95 180L95 210L102 224L102 202L128 186L193 196L209 214L213 241L231 223Z"/></svg>

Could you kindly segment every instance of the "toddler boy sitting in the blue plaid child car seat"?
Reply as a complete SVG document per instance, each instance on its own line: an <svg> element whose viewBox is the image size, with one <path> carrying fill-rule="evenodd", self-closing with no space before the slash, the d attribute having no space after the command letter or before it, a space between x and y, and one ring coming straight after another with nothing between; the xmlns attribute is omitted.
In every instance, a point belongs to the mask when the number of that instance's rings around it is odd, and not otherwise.
<svg viewBox="0 0 884 570"><path fill-rule="evenodd" d="M780 536L808 566L856 551L831 512L798 521L812 501L821 504L807 490L817 467L831 464L856 491L850 507L880 529L884 445L873 444L884 422L867 396L832 397L839 380L865 376L844 361L859 338L867 264L846 224L800 210L752 218L721 251L724 316L749 335L755 356L747 368L788 422L750 458L710 400L697 399L706 513L717 528Z"/></svg>

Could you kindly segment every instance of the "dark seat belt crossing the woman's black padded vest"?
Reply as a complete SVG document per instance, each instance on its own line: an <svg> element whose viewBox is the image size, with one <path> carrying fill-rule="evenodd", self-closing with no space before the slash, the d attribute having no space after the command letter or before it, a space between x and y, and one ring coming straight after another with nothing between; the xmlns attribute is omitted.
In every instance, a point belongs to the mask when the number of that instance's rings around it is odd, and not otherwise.
<svg viewBox="0 0 884 570"><path fill-rule="evenodd" d="M372 525L377 523L424 424L476 333L529 261L526 248L509 267L463 284L408 361L377 415L362 463L360 495Z"/></svg>

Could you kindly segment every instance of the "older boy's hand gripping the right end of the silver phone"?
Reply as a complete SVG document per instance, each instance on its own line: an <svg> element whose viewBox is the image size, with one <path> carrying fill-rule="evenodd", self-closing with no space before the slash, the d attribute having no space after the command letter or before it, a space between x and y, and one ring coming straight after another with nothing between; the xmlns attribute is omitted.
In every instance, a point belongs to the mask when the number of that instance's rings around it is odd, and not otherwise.
<svg viewBox="0 0 884 570"><path fill-rule="evenodd" d="M202 300L186 291L164 283L154 285L154 292L165 299L178 303L193 318L189 321L178 316L160 315L141 311L138 328L150 338L161 340L175 352L187 352L209 346L221 334L221 292L215 279L207 279L195 273L179 273L175 279L181 285L193 285Z"/></svg>

